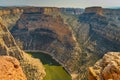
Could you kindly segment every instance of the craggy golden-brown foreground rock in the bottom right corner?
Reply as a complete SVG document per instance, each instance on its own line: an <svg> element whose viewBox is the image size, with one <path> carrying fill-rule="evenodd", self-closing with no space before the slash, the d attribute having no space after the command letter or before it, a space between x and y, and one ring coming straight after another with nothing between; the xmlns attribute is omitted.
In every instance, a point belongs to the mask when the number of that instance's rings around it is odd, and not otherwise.
<svg viewBox="0 0 120 80"><path fill-rule="evenodd" d="M89 80L120 80L120 52L109 52L88 68Z"/></svg>

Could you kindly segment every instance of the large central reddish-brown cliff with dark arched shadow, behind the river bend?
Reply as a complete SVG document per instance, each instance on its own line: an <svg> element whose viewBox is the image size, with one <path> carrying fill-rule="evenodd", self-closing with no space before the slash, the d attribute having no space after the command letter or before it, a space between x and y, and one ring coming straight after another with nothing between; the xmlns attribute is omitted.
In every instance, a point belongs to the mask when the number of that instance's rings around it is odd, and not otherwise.
<svg viewBox="0 0 120 80"><path fill-rule="evenodd" d="M49 12L49 8L45 8L45 13L46 9ZM35 8L35 11L33 8L27 10L11 30L16 41L21 43L20 46L24 50L45 51L58 60L68 72L77 71L78 67L75 67L79 59L79 47L72 30L59 15L60 12L51 14L54 8L49 14L37 12L39 8Z"/></svg>

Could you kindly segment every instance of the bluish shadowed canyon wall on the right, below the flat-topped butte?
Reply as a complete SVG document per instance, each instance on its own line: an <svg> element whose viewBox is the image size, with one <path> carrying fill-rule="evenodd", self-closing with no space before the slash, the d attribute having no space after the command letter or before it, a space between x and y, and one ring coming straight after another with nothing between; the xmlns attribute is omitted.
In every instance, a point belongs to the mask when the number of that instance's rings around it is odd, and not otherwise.
<svg viewBox="0 0 120 80"><path fill-rule="evenodd" d="M71 26L82 50L78 80L86 80L86 67L92 66L104 54L120 52L119 13L119 10L103 9L102 15L91 11L79 17L64 14L65 22Z"/></svg>

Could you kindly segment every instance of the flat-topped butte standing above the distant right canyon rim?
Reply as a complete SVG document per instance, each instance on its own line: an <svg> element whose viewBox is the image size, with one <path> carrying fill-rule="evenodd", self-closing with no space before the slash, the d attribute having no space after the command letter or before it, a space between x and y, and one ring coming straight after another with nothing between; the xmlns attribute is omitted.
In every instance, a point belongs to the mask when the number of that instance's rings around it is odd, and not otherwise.
<svg viewBox="0 0 120 80"><path fill-rule="evenodd" d="M103 9L102 7L87 7L85 8L85 13L96 13L99 15L103 15Z"/></svg>

